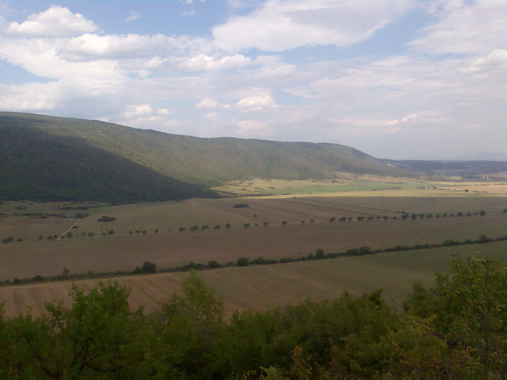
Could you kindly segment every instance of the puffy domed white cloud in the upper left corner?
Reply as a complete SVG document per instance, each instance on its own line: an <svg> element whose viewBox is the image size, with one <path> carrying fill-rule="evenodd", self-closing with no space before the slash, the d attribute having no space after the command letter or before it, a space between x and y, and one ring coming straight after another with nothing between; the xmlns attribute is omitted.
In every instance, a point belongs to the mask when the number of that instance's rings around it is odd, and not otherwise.
<svg viewBox="0 0 507 380"><path fill-rule="evenodd" d="M68 8L51 6L47 11L32 14L21 24L13 21L7 27L7 33L19 36L60 37L83 34L98 30L93 21L79 13L72 13Z"/></svg>

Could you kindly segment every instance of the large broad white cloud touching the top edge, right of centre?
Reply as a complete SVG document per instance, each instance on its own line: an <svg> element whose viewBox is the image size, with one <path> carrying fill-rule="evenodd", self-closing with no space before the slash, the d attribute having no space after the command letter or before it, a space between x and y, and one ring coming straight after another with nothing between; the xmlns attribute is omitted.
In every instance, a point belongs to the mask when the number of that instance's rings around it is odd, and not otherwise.
<svg viewBox="0 0 507 380"><path fill-rule="evenodd" d="M307 45L347 47L369 39L413 7L409 0L268 0L244 16L212 28L226 51L283 51Z"/></svg>

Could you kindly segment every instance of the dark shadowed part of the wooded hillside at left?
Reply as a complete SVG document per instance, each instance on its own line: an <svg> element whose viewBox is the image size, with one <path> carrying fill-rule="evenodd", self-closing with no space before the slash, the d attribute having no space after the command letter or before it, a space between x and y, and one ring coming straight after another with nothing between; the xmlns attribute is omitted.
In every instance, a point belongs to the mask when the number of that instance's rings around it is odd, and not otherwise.
<svg viewBox="0 0 507 380"><path fill-rule="evenodd" d="M138 202L216 197L86 144L0 121L0 199Z"/></svg>

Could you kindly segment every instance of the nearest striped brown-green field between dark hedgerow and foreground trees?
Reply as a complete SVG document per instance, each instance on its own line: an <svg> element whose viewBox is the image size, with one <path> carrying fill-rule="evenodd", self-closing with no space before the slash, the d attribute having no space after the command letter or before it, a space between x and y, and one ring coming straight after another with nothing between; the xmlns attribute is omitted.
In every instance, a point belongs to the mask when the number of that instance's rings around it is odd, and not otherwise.
<svg viewBox="0 0 507 380"><path fill-rule="evenodd" d="M307 297L334 298L344 290L360 295L383 289L387 300L398 304L410 292L414 281L426 286L434 283L434 274L450 271L452 254L462 258L479 251L483 255L507 262L507 242L482 245L442 247L373 256L343 257L328 260L293 262L276 265L250 265L199 272L226 301L229 315L235 310L265 310L291 305ZM132 309L143 306L147 311L177 292L186 273L166 273L120 277L121 284L132 288ZM98 280L76 283L88 290ZM44 313L44 302L65 300L69 304L69 281L19 285L0 288L0 302L5 302L7 317L32 308L32 315Z"/></svg>

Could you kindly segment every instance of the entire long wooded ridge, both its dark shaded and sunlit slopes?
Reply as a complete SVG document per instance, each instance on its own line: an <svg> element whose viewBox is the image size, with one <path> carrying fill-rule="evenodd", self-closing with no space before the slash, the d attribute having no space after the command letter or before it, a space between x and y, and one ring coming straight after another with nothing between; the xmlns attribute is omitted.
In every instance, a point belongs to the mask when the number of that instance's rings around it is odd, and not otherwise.
<svg viewBox="0 0 507 380"><path fill-rule="evenodd" d="M198 138L99 121L0 112L0 198L140 200L210 197L231 179L413 175L330 143Z"/></svg>

